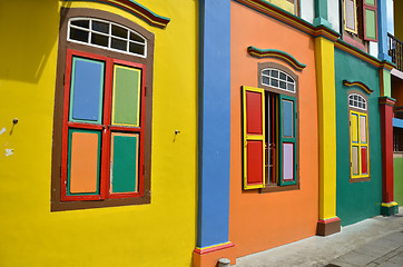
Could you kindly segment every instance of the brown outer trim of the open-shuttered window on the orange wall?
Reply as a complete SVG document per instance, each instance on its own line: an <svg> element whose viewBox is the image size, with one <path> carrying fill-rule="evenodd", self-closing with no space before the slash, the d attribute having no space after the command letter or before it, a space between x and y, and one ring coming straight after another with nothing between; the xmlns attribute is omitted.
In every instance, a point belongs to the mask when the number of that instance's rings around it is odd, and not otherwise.
<svg viewBox="0 0 403 267"><path fill-rule="evenodd" d="M283 70L284 72L286 72L287 75L289 75L291 77L293 77L293 79L295 80L295 92L289 92L289 91L281 90L277 88L273 88L271 86L263 85L262 83L262 70L264 70L266 68L279 69L279 70ZM257 83L258 83L258 87L264 89L265 91L294 97L296 99L296 107L295 107L296 112L297 112L297 115L299 115L299 81L298 81L298 76L293 70L288 69L287 67L283 66L283 65L275 63L275 62L259 62L257 65ZM297 142L296 164L298 165L299 164L299 116L297 116L295 123L297 126L297 128L296 128L296 142ZM261 188L258 190L258 192L265 194L265 192L289 191L289 190L299 190L299 165L296 170L296 185L278 186L275 184L266 182L265 187Z"/></svg>

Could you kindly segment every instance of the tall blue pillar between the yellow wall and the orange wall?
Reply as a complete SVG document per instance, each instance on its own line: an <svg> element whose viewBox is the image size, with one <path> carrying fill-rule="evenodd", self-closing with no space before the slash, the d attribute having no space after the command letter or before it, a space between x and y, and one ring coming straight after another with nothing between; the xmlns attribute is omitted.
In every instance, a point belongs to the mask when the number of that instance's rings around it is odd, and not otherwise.
<svg viewBox="0 0 403 267"><path fill-rule="evenodd" d="M230 0L199 1L197 249L228 245Z"/></svg>

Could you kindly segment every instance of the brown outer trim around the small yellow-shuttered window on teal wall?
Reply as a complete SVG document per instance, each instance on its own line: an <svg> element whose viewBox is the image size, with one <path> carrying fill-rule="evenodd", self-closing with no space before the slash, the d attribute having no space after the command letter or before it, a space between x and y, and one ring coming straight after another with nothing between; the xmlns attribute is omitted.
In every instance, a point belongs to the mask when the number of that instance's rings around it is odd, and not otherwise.
<svg viewBox="0 0 403 267"><path fill-rule="evenodd" d="M366 110L362 110L362 109L357 109L357 108L353 108L353 107L350 107L350 102L348 102L348 97L352 93L356 93L356 95L360 95L361 97L363 97L366 101ZM361 113L366 113L366 125L367 125L367 128L368 128L368 134L367 134L367 144L368 144L368 162L371 162L371 148L370 148L370 115L368 115L368 110L370 110L370 101L368 101L368 97L363 93L361 90L356 90L356 89L353 89L353 90L348 90L347 92L347 108L348 108L348 156L350 156L350 165L352 164L351 161L351 132L350 132L350 110L353 110L353 111L356 111L356 112L361 112ZM370 181L371 180L371 164L367 165L368 167L368 176L367 177L362 177L362 178L352 178L351 176L351 166L348 167L348 176L350 176L350 182L361 182L361 181Z"/></svg>

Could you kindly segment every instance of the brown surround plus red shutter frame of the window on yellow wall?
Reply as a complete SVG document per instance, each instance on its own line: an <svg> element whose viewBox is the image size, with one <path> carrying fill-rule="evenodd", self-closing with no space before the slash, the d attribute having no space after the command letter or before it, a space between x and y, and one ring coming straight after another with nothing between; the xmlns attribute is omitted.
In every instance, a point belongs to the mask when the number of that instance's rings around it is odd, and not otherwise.
<svg viewBox="0 0 403 267"><path fill-rule="evenodd" d="M116 22L128 29L140 33L147 40L147 55L140 57L136 55L128 55L117 51L107 50L105 48L91 47L85 43L68 41L68 22L71 18L95 18ZM153 68L154 68L154 34L135 22L127 20L120 16L112 14L101 10L83 9L83 8L61 8L60 10L60 31L59 31L59 50L58 50L58 65L57 65L57 80L55 92L55 112L53 112L53 146L52 146L52 169L51 169L51 210L73 210L73 209L88 209L101 207L115 207L127 205L140 205L150 202L150 170L151 170L151 112L153 112ZM144 146L140 157L144 157L144 180L142 187L139 185L139 194L130 194L130 196L111 196L105 197L100 200L62 200L62 174L63 157L62 154L67 152L66 147L66 125L67 120L66 109L66 93L65 86L69 82L66 81L68 69L69 53L81 55L83 57L99 57L110 62L125 63L136 67L141 67L147 72L144 78L144 93L145 93L145 110L142 110L144 118ZM114 66L114 65L111 65ZM110 79L110 78L109 78ZM142 106L144 107L144 106ZM141 116L141 113L140 113ZM70 123L70 122L69 122ZM101 126L100 126L101 127ZM110 127L111 129L116 126ZM117 127L115 130L118 130ZM65 147L63 147L65 144ZM140 148L141 150L141 148ZM101 162L105 165L107 162ZM140 166L139 166L140 167ZM107 180L108 181L108 180ZM104 181L105 182L105 181ZM109 181L108 181L109 182ZM101 186L101 185L100 185ZM105 187L104 187L105 188ZM141 192L140 192L141 190ZM102 191L102 190L101 190Z"/></svg>

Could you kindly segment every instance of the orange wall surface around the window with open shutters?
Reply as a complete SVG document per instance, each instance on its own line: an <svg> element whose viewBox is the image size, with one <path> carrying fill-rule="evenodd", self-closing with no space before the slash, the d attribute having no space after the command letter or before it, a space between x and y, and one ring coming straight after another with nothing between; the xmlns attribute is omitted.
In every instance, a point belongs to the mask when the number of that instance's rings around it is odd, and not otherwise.
<svg viewBox="0 0 403 267"><path fill-rule="evenodd" d="M318 218L318 132L314 39L232 1L232 158L229 240L236 257L315 235ZM258 87L257 59L247 47L278 49L307 67L299 76L299 190L258 194L242 189L240 87Z"/></svg>

